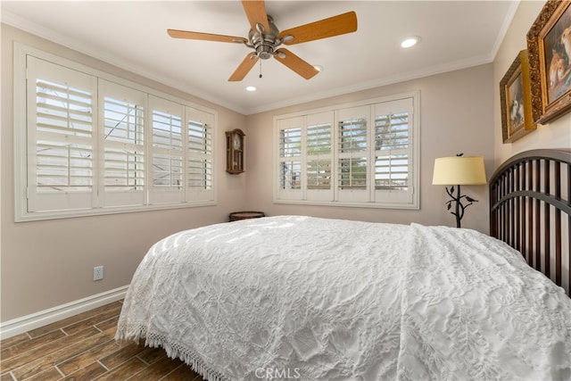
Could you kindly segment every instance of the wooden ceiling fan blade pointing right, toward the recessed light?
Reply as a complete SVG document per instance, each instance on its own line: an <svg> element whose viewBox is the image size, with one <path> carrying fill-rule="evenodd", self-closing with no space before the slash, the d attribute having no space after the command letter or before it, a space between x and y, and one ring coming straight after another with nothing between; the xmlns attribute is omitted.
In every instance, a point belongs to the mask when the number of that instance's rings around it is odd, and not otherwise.
<svg viewBox="0 0 571 381"><path fill-rule="evenodd" d="M334 37L357 30L357 15L355 12L347 12L329 17L321 21L310 22L299 27L283 30L279 38L293 36L293 39L285 38L285 45L301 44L320 38Z"/></svg>

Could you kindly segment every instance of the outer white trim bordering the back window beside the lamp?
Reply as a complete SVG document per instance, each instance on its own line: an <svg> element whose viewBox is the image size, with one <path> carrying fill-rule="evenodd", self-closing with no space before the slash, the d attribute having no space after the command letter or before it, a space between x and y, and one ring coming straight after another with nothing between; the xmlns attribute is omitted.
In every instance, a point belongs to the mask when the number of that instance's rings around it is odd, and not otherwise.
<svg viewBox="0 0 571 381"><path fill-rule="evenodd" d="M279 123L278 120L285 120L290 118L303 118L323 112L333 112L334 121L333 125L337 125L337 112L343 109L349 109L360 106L372 106L374 104L381 104L402 99L412 99L412 137L410 138L412 144L412 173L411 186L412 186L412 200L410 203L380 201L380 202L343 202L343 201L317 201L317 200L302 200L302 199L283 199L279 198L279 184L280 174L278 173L279 167ZM318 205L318 206L341 206L341 207L354 207L354 208L374 208L374 209L400 209L400 210L420 210L420 90L399 93L396 95L385 95L376 98L350 102L346 104L334 104L316 109L303 110L299 112L290 112L281 115L275 115L273 118L273 168L272 168L272 183L273 183L273 203L280 204L302 204L302 205ZM303 129L303 128L302 128ZM336 143L336 134L334 134L334 145ZM335 153L335 157L338 153ZM307 155L302 154L302 166L305 165ZM335 184L335 182L332 182ZM299 193L305 193L305 189L300 189ZM335 195L338 193L336 185L334 187Z"/></svg>

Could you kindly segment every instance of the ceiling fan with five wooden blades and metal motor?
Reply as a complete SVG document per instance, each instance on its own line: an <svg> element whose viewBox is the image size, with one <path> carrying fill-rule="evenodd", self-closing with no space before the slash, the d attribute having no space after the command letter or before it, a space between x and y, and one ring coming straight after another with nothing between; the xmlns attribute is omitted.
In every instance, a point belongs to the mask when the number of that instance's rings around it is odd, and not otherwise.
<svg viewBox="0 0 571 381"><path fill-rule="evenodd" d="M277 47L282 44L295 45L321 38L335 37L357 30L357 16L355 12L346 12L280 32L272 17L266 13L264 1L242 0L242 5L252 28L248 38L177 29L167 29L167 32L170 37L174 38L238 43L252 48L254 51L246 55L244 61L238 65L228 79L229 81L240 81L244 79L259 59L268 60L271 57L274 57L289 69L294 70L304 79L310 79L319 70L289 50Z"/></svg>

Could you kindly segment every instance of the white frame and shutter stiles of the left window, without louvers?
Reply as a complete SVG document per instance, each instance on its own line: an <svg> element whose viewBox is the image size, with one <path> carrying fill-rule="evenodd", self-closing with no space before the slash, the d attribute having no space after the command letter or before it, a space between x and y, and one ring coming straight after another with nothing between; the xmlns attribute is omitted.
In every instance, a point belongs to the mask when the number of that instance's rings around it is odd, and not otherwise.
<svg viewBox="0 0 571 381"><path fill-rule="evenodd" d="M208 128L211 147L208 147L203 159L206 161L210 160L210 173L208 180L205 180L205 184L209 186L209 189L204 191L196 190L196 187L191 189L189 186L189 177L192 176L189 172L189 162L195 159L195 155L189 152L188 144L186 141L183 145L183 167L182 170L186 173L183 175L185 183L182 184L182 195L183 201L177 203L160 203L154 204L152 202L152 187L153 187L153 176L146 170L145 174L145 203L144 204L133 204L133 205L104 205L104 195L101 190L104 187L103 184L103 168L101 162L104 160L104 155L99 145L100 134L104 134L104 123L103 123L103 111L99 110L99 106L104 103L104 98L106 93L99 93L97 86L97 93L94 95L95 105L93 109L94 125L93 130L95 137L93 137L94 151L96 150L97 156L93 159L95 162L95 168L93 169L95 174L93 176L93 194L94 198L100 198L97 203L92 203L91 207L85 209L59 209L59 210L49 210L49 211L30 211L29 210L29 195L30 195L30 183L29 183L29 155L28 155L28 139L29 139L29 115L27 111L28 107L28 67L27 61L28 56L33 56L36 59L50 62L54 65L60 65L62 67L68 68L70 70L79 71L80 73L87 74L95 78L95 82L100 81L112 82L112 84L119 87L126 87L134 91L144 93L146 98L145 103L145 161L147 166L149 162L153 160L153 146L151 141L152 134L152 124L153 120L151 118L151 107L150 98L158 97L167 102L178 104L182 109L182 133L183 139L188 139L189 132L189 121L192 120L196 122L196 116L204 117L204 126ZM36 97L36 95L33 95ZM70 59L63 58L61 56L47 53L35 47L26 46L21 43L14 43L13 46L13 131L14 131L14 220L16 222L29 221L29 220L41 220L41 219L64 219L73 217L84 217L93 215L103 215L103 214L114 214L114 213L126 213L126 212L137 212L137 211L155 211L155 210L167 210L167 209L179 209L187 207L198 207L207 205L217 204L217 176L216 176L216 131L218 124L218 112L210 108L204 107L201 104L194 104L193 102L187 101L186 99L179 98L178 96L171 95L168 93L161 92L160 90L154 89L153 87L147 87L136 82L132 82L128 79L120 78L116 75L110 74L103 70L98 70L79 62L71 61ZM206 157L207 156L207 157ZM35 168L35 165L31 163L31 166ZM102 176L99 176L102 174ZM35 175L34 175L35 176Z"/></svg>

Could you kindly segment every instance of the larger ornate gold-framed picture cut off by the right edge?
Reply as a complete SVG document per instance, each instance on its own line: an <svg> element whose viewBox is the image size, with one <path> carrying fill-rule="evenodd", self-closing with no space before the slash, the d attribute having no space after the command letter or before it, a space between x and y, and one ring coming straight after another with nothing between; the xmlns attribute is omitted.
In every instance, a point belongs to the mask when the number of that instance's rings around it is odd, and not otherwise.
<svg viewBox="0 0 571 381"><path fill-rule="evenodd" d="M571 110L571 2L549 0L527 32L534 122Z"/></svg>

